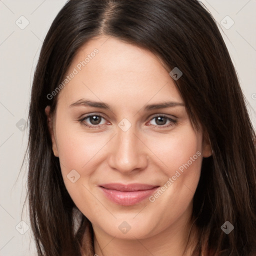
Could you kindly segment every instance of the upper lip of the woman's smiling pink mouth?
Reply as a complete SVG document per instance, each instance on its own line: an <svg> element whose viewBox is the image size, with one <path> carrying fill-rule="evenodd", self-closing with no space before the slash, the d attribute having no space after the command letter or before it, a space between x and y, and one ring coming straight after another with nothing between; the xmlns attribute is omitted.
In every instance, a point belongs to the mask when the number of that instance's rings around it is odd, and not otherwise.
<svg viewBox="0 0 256 256"><path fill-rule="evenodd" d="M107 189L115 189L121 192L148 190L148 189L157 187L156 185L149 185L149 184L142 184L142 183L131 183L131 184L108 183L108 184L101 184L99 186Z"/></svg>

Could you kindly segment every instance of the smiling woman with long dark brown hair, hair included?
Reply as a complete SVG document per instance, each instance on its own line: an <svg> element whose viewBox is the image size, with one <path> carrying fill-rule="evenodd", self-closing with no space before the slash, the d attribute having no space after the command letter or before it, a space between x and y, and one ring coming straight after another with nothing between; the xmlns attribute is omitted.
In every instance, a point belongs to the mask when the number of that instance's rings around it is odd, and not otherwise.
<svg viewBox="0 0 256 256"><path fill-rule="evenodd" d="M254 255L255 133L196 0L72 0L34 74L38 255Z"/></svg>

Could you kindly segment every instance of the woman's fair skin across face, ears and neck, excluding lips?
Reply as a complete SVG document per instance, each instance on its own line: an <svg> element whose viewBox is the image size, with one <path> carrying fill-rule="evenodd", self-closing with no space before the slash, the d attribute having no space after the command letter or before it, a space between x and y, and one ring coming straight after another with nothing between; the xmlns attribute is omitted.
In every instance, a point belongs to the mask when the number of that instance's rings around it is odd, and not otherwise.
<svg viewBox="0 0 256 256"><path fill-rule="evenodd" d="M45 113L65 186L92 223L95 253L190 255L196 239L194 231L188 250L184 254L183 250L191 224L192 198L202 157L211 154L210 145L201 131L193 129L184 106L143 110L153 103L184 104L170 70L150 51L100 36L79 49L66 73L94 48L99 52L58 93L54 115L49 114L49 106ZM111 110L70 106L80 99L105 102ZM79 121L99 113L104 116L99 124L91 123L89 118ZM166 119L160 125L153 118L155 114L176 122ZM123 118L131 124L127 131L118 126ZM198 151L200 156L154 202L146 198L135 205L118 205L98 187L111 182L162 186ZM76 182L67 178L72 169L80 175ZM118 228L123 221L130 226L125 234Z"/></svg>

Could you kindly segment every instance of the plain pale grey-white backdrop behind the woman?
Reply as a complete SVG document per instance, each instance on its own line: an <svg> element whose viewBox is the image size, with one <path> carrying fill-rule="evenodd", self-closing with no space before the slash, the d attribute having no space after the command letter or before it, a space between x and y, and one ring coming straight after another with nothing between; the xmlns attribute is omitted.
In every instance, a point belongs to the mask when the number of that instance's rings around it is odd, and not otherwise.
<svg viewBox="0 0 256 256"><path fill-rule="evenodd" d="M27 168L20 167L34 68L44 36L65 2L0 0L0 256L36 254L26 206L21 216ZM219 23L255 127L256 0L201 2Z"/></svg>

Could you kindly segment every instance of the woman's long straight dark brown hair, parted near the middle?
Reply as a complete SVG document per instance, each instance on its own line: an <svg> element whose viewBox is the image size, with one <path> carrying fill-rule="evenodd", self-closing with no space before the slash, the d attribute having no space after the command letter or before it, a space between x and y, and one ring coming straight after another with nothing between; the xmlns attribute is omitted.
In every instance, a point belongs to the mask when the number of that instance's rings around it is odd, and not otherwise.
<svg viewBox="0 0 256 256"><path fill-rule="evenodd" d="M105 34L155 53L169 68L195 129L207 134L193 199L199 241L194 255L248 256L256 251L256 138L225 43L196 0L70 0L42 44L29 108L28 199L39 256L93 255L90 221L74 205L53 155L44 108L54 112L58 86L79 48ZM68 86L68 85L67 85ZM233 224L225 234L221 225Z"/></svg>

